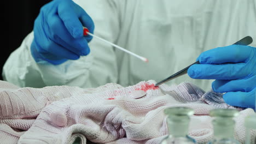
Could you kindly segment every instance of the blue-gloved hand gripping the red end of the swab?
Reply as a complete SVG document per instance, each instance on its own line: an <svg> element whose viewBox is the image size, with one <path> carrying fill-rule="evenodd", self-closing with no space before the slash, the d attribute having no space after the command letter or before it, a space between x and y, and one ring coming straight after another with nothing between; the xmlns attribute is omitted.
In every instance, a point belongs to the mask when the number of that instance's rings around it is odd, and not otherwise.
<svg viewBox="0 0 256 144"><path fill-rule="evenodd" d="M91 17L73 1L54 0L44 5L34 21L31 53L35 61L61 64L88 55L92 37L83 37L83 26L93 33Z"/></svg>

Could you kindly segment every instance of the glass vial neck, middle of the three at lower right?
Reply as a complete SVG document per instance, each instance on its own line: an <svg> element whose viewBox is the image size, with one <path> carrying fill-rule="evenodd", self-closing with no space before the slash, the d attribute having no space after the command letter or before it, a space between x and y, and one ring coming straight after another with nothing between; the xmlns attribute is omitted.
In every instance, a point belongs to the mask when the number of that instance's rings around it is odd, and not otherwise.
<svg viewBox="0 0 256 144"><path fill-rule="evenodd" d="M240 143L234 138L235 121L238 115L235 109L215 109L210 111L210 116L214 117L213 131L214 138L209 144L237 144Z"/></svg>

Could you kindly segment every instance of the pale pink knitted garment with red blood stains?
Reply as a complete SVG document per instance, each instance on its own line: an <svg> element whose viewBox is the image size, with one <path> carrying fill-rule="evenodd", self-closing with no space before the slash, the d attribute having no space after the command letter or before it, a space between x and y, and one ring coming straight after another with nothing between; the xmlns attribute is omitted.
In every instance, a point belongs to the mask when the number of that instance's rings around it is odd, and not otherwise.
<svg viewBox="0 0 256 144"><path fill-rule="evenodd" d="M160 143L167 135L166 107L195 111L189 135L197 142L213 137L208 113L219 107L240 110L235 138L244 143L244 118L254 113L224 103L222 94L191 83L153 87L143 81L130 87L108 83L98 88L69 86L19 88L0 81L0 143ZM256 131L252 131L252 142Z"/></svg>

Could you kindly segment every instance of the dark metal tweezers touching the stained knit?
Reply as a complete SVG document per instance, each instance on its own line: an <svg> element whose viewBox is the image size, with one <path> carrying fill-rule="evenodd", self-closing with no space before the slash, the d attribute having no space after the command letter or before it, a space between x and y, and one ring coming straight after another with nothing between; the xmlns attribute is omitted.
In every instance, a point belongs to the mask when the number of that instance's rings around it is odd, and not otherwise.
<svg viewBox="0 0 256 144"><path fill-rule="evenodd" d="M238 41L237 41L235 44L233 44L233 45L249 45L249 44L252 43L252 41L253 41L252 37L247 36L247 37L245 37L245 38L242 38L241 40L238 40ZM197 62L195 62L195 63L193 63L193 64L200 64L200 62L197 61ZM166 83L167 81L173 80L173 79L175 79L175 78L177 78L177 77L179 77L179 76L182 76L182 75L184 75L184 74L187 74L189 67L190 67L191 65L193 65L193 64L190 64L188 67L186 67L186 68L184 68L184 69L178 71L177 73L175 73L175 74L173 74L173 75L167 77L166 79L164 79L164 80L162 80L162 81L156 83L155 86L159 86L159 85L161 85L162 83Z"/></svg>

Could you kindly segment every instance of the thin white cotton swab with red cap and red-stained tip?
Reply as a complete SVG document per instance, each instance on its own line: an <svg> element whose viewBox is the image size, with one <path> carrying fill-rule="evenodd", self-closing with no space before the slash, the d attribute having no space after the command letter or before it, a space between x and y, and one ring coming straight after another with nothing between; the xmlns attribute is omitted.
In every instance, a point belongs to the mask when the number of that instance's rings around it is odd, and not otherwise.
<svg viewBox="0 0 256 144"><path fill-rule="evenodd" d="M96 35L90 33L89 30L88 30L88 28L86 28L86 27L83 27L83 28L84 28L84 35L91 35L92 37L97 38L97 39L100 39L100 40L104 41L105 43L110 44L110 45L112 45L112 46L114 46L114 47L117 47L118 49L120 49L120 50L122 50L122 51L124 51L124 52L127 52L127 53L129 53L130 55L135 56L135 57L141 59L141 60L144 61L144 62L148 62L148 59L147 59L146 57L139 56L139 55L137 55L137 54L135 54L135 53L133 53L133 52L131 52L131 51L128 51L128 50L124 49L124 48L121 47L121 46L118 46L118 45L115 45L115 44L113 44L113 43L110 43L109 41L107 41L107 40L105 40L105 39L102 39L102 38L100 38L100 37L97 37Z"/></svg>

